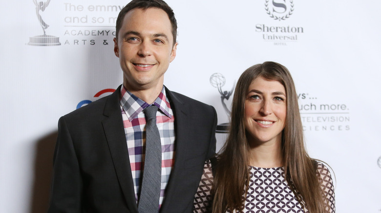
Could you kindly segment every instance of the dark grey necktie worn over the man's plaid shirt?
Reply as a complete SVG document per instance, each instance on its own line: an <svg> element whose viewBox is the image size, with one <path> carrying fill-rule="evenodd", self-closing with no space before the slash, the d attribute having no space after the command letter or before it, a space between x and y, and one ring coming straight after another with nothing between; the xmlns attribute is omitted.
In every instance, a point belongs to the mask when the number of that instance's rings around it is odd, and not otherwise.
<svg viewBox="0 0 381 213"><path fill-rule="evenodd" d="M146 160L144 163L138 210L139 213L159 212L161 185L161 142L156 125L157 106L145 109L146 124Z"/></svg>

